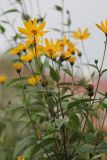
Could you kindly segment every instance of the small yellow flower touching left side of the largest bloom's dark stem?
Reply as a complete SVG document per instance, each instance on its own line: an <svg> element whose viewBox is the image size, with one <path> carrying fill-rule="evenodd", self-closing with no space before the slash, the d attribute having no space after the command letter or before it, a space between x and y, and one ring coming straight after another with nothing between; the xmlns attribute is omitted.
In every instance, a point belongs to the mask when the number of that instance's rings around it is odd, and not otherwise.
<svg viewBox="0 0 107 160"><path fill-rule="evenodd" d="M21 61L25 61L25 62L31 62L34 58L34 54L32 52L32 50L29 50L29 52L27 54L24 54L20 57Z"/></svg>

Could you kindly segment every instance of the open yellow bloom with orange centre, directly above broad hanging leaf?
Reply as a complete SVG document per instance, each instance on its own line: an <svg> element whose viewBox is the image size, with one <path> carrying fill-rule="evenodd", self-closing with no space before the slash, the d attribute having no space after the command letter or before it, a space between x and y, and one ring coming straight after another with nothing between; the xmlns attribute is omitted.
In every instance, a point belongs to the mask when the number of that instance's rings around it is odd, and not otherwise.
<svg viewBox="0 0 107 160"><path fill-rule="evenodd" d="M50 41L45 39L45 47L41 46L41 50L46 53L48 57L55 59L58 57L58 53L61 51L61 48L58 41L54 43L52 39Z"/></svg>

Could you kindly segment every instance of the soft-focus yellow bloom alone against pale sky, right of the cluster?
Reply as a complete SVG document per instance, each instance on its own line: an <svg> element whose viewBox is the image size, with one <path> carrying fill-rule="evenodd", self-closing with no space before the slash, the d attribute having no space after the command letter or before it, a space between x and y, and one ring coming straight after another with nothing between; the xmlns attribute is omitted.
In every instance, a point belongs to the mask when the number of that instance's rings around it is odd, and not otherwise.
<svg viewBox="0 0 107 160"><path fill-rule="evenodd" d="M80 28L78 28L77 31L73 32L72 36L78 40L86 40L89 38L90 33L88 32L88 28L85 28L83 31Z"/></svg>

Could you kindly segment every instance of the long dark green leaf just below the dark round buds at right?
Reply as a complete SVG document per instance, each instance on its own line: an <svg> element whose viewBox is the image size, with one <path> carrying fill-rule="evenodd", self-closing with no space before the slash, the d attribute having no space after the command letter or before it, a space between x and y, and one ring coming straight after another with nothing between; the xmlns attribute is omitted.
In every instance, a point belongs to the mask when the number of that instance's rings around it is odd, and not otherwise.
<svg viewBox="0 0 107 160"><path fill-rule="evenodd" d="M93 99L86 98L86 99L75 100L74 102L71 102L71 103L68 104L68 109L70 109L70 108L72 108L74 106L78 106L78 105L80 105L82 103L90 102L90 101L93 101Z"/></svg>

